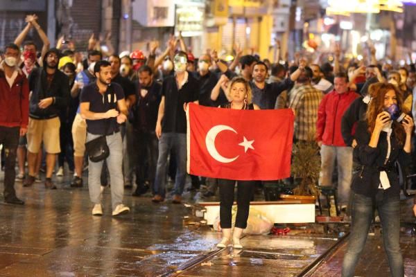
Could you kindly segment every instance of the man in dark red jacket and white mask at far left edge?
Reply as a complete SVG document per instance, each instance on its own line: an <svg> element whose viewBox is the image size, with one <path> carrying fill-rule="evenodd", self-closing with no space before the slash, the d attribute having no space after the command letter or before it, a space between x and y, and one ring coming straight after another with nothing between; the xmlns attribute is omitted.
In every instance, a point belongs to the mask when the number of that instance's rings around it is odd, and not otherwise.
<svg viewBox="0 0 416 277"><path fill-rule="evenodd" d="M8 44L0 63L0 144L6 156L4 202L23 205L16 197L15 161L19 136L24 136L28 130L29 87L26 76L17 67L19 57L19 47Z"/></svg>

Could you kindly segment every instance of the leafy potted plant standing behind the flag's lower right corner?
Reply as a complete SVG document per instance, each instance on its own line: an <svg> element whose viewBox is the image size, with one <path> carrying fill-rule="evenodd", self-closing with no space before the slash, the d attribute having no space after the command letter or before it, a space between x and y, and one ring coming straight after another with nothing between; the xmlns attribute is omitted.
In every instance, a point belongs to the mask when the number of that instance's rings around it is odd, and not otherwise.
<svg viewBox="0 0 416 277"><path fill-rule="evenodd" d="M303 203L315 203L318 197L320 174L319 148L315 141L298 141L293 145L292 176L297 186L293 195L280 195L282 199L297 199Z"/></svg>

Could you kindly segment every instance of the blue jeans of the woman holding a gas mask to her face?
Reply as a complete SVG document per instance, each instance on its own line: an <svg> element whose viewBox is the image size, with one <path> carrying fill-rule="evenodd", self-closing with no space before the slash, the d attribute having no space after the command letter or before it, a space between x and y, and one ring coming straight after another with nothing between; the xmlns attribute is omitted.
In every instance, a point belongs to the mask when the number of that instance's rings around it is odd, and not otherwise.
<svg viewBox="0 0 416 277"><path fill-rule="evenodd" d="M386 197L381 189L373 199L352 192L352 226L348 249L343 261L343 277L354 276L354 271L367 240L374 208L379 211L383 226L384 249L388 256L391 276L403 277L404 265L400 252L400 199Z"/></svg>

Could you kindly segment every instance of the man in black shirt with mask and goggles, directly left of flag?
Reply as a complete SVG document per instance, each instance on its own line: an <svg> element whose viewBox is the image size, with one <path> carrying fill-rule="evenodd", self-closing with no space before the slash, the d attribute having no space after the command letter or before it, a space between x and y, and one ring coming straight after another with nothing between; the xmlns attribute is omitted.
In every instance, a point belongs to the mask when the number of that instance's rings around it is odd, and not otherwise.
<svg viewBox="0 0 416 277"><path fill-rule="evenodd" d="M156 136L159 139L159 157L155 176L155 197L153 202L163 202L166 194L166 162L173 149L177 163L173 203L182 202L185 179L187 176L187 118L184 105L198 103L198 81L187 71L187 53L176 53L173 64L175 75L164 79L162 99L159 105L156 123Z"/></svg>

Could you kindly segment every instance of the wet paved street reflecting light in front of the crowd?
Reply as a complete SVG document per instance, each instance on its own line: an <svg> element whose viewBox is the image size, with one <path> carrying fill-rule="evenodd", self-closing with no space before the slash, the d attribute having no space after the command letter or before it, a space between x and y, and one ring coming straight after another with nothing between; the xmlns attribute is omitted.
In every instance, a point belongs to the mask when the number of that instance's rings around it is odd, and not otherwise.
<svg viewBox="0 0 416 277"><path fill-rule="evenodd" d="M58 190L17 183L24 206L1 202L0 276L340 276L345 224L290 226L286 236L246 235L243 250L217 249L220 233L187 224L198 222L192 206L153 204L125 190L131 212L112 217L106 188L104 215L94 217L85 186L69 188L69 177L54 178ZM184 198L193 205L198 195ZM403 203L406 275L416 276L416 241L410 235L415 220L410 200ZM363 257L357 276L389 276L379 229L369 235Z"/></svg>

